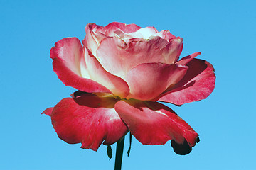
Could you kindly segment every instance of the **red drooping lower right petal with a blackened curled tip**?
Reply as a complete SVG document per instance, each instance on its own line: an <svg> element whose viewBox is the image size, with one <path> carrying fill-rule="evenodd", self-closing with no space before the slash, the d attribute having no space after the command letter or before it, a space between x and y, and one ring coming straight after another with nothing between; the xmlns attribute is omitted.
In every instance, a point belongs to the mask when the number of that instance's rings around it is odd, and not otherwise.
<svg viewBox="0 0 256 170"><path fill-rule="evenodd" d="M177 154L188 154L198 142L198 134L171 108L153 101L118 101L114 106L132 135L144 145L174 142Z"/></svg>

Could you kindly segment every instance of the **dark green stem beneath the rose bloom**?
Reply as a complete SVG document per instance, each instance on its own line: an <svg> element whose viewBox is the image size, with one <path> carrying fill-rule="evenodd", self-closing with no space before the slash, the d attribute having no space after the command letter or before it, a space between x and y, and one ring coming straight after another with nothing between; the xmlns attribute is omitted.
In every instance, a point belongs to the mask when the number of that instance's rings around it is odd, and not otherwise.
<svg viewBox="0 0 256 170"><path fill-rule="evenodd" d="M124 137L117 141L117 152L114 162L114 170L121 170L122 166L122 155L124 152Z"/></svg>

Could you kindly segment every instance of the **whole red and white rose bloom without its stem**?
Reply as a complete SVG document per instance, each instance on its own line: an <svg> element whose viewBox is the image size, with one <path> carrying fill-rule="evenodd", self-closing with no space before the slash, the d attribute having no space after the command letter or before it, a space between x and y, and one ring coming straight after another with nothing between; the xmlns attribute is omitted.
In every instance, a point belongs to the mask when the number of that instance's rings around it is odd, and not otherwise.
<svg viewBox="0 0 256 170"><path fill-rule="evenodd" d="M86 36L64 38L50 50L53 69L79 91L64 98L50 115L60 139L97 150L128 131L144 145L164 145L188 154L198 134L171 108L200 101L213 91L213 66L193 53L178 60L183 39L169 31L135 24L87 24Z"/></svg>

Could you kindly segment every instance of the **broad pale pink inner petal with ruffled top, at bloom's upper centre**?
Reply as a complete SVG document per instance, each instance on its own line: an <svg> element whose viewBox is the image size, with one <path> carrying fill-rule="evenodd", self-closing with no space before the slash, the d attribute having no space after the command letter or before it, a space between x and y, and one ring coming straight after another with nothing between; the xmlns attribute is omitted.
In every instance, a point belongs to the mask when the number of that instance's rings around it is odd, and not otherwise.
<svg viewBox="0 0 256 170"><path fill-rule="evenodd" d="M118 38L105 38L97 50L97 59L107 72L124 78L125 74L142 63L164 62L161 51L149 42L135 38L124 42Z"/></svg>

